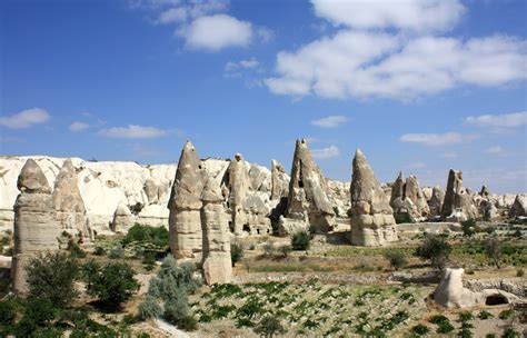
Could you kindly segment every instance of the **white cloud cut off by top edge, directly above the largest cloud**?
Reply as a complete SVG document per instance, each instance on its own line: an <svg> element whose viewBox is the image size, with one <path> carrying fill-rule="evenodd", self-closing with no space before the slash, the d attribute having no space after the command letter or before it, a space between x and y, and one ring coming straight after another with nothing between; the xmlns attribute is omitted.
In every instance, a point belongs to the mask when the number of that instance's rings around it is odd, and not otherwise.
<svg viewBox="0 0 527 338"><path fill-rule="evenodd" d="M315 14L356 29L449 30L465 13L459 0L311 0Z"/></svg>

